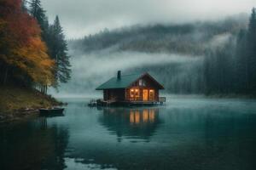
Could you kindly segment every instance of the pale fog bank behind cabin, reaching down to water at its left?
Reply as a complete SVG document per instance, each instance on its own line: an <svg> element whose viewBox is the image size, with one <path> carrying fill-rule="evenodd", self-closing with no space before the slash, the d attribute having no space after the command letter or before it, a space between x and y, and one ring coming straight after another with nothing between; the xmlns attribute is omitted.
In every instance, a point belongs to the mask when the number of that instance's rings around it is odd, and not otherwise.
<svg viewBox="0 0 256 170"><path fill-rule="evenodd" d="M189 56L182 54L148 54L138 52L110 52L100 51L91 54L79 54L70 52L73 56L72 79L67 84L61 84L58 92L50 89L50 94L57 97L90 97L100 95L95 88L112 77L116 77L117 71L122 74L143 73L148 71L156 79L163 81L159 71L154 68L163 68L166 65L193 65L201 63L202 56ZM185 74L189 67L181 69L180 74ZM164 73L168 74L168 71ZM175 77L174 79L175 80Z"/></svg>

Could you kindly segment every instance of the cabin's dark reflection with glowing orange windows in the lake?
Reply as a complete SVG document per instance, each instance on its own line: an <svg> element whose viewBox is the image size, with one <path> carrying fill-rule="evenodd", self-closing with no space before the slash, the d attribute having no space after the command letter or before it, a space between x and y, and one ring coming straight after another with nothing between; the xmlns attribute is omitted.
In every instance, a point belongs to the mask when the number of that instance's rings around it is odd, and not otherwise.
<svg viewBox="0 0 256 170"><path fill-rule="evenodd" d="M160 123L158 108L120 109L106 108L99 122L107 127L111 134L118 136L119 142L126 139L146 139L154 135ZM136 138L130 138L136 137Z"/></svg>

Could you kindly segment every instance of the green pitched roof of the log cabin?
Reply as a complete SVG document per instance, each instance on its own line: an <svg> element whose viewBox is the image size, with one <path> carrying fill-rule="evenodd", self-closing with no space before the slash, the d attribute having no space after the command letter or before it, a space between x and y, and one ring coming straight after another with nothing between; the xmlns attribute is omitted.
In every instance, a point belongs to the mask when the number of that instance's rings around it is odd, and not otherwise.
<svg viewBox="0 0 256 170"><path fill-rule="evenodd" d="M107 82L104 82L102 85L96 88L96 90L113 89L113 88L129 88L133 82L136 82L139 78L144 76L148 76L154 82L156 82L157 87L159 87L160 89L164 89L164 87L160 84L160 82L157 82L148 73L144 73L144 74L122 75L120 79L118 79L117 77L112 77Z"/></svg>

